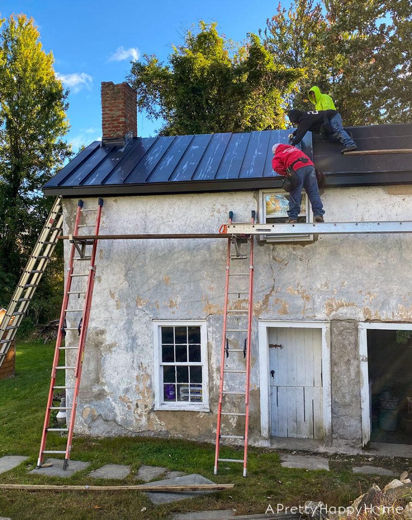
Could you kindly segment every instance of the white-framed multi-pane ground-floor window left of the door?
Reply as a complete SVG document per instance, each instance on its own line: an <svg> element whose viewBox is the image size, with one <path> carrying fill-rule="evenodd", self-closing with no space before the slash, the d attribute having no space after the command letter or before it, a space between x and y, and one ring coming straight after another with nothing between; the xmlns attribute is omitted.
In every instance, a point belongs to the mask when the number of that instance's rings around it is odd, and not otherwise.
<svg viewBox="0 0 412 520"><path fill-rule="evenodd" d="M205 321L156 320L155 410L209 411Z"/></svg>

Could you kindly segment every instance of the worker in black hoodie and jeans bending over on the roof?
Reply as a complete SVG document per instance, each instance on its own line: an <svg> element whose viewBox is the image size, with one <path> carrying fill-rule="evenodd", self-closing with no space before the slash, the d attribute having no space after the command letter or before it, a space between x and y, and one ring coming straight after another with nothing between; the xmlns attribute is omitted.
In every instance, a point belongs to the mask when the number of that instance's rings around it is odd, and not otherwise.
<svg viewBox="0 0 412 520"><path fill-rule="evenodd" d="M306 132L320 133L321 127L323 127L323 132L333 135L345 146L341 150L342 153L351 152L358 148L355 141L342 126L342 118L336 110L312 110L310 112L290 110L287 116L290 122L297 126L293 134L289 134L293 146L303 139Z"/></svg>

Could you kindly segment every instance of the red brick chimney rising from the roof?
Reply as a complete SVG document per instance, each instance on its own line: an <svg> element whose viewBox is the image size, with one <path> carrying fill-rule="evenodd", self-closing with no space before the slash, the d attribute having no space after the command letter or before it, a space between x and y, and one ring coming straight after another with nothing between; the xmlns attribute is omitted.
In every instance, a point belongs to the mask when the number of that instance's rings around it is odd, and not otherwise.
<svg viewBox="0 0 412 520"><path fill-rule="evenodd" d="M102 144L126 144L138 135L136 93L126 83L102 82Z"/></svg>

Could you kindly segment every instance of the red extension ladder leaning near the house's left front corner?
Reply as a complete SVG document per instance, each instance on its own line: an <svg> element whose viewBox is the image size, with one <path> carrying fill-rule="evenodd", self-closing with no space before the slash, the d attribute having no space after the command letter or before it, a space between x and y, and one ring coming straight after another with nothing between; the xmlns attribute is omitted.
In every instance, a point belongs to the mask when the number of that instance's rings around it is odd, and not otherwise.
<svg viewBox="0 0 412 520"><path fill-rule="evenodd" d="M102 206L103 206L103 199L99 199L99 204L97 209L92 210L84 210L83 209L83 201L79 200L77 205L77 212L76 212L76 219L74 224L74 235L78 236L78 230L79 228L83 227L93 227L94 226L94 235L99 235L99 228L100 228L100 218L102 213ZM80 224L80 218L81 215L85 212L97 212L97 217L95 219L95 224ZM39 469L42 467L43 463L43 457L45 454L48 453L64 453L64 462L63 462L63 469L67 469L68 461L70 459L70 452L72 449L72 439L73 439L73 428L74 428L74 422L76 419L76 407L77 407L77 400L78 400L78 393L79 393L79 385L80 385L80 376L81 376L81 368L83 365L83 355L84 355L84 348L85 348L85 341L86 341L86 334L87 334L87 327L89 324L89 317L90 317L90 307L91 307L91 301L92 301L92 295L93 295L93 286L94 286L94 277L95 277L95 257L96 257L96 251L97 251L97 243L98 239L93 240L72 240L72 247L70 251L70 257L68 262L68 268L67 268L67 278L64 288L64 297L63 297L63 304L62 304L62 310L60 313L60 322L59 322L59 331L57 335L56 340L56 348L54 350L54 358L53 358L53 366L51 370L51 381L50 381L50 389L49 389L49 397L47 399L47 408L46 408L46 417L44 421L43 426L43 434L42 434L42 442L40 444L40 452L37 460L37 466L36 469ZM91 246L91 251L87 252L86 247ZM75 256L76 252L78 252L79 256ZM77 274L74 272L74 261L87 261L90 260L89 265L89 271L88 273L82 273ZM78 264L76 264L78 265ZM86 289L83 291L79 290L73 290L72 291L72 281L73 278L76 277L84 277L87 278L87 285ZM79 298L81 294L85 295L84 298L84 305L83 308L69 308L69 299L72 295L77 295ZM67 326L67 314L72 313L78 314L81 313L81 319L76 326L75 324L70 323ZM75 331L77 330L79 333L79 339L78 339L78 345L77 346L62 346L63 337L66 335L66 331ZM71 365L66 365L66 362L63 363L63 365L59 365L59 357L61 351L64 350L76 350L76 361L75 363L71 363ZM67 356L66 356L67 358ZM65 371L65 384L64 386L56 386L56 376L58 370L64 370ZM74 385L67 385L68 382L68 372L67 371L74 371ZM67 395L66 395L66 402L65 406L54 406L53 407L53 393L57 389L64 389L66 391L67 389L73 390L73 399L72 399L72 406L67 406ZM50 422L50 415L52 410L70 410L71 416L70 416L70 424L65 428L50 428L49 422ZM68 432L67 433L67 444L66 449L64 451L62 450L46 450L46 441L47 441L47 434L48 432Z"/></svg>

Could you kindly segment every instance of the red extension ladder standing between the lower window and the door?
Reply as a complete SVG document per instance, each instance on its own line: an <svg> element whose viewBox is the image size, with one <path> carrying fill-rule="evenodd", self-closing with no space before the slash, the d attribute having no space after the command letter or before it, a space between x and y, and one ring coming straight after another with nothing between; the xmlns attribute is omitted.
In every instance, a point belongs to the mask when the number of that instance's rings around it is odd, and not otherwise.
<svg viewBox="0 0 412 520"><path fill-rule="evenodd" d="M229 212L229 224L232 223L233 219L233 212ZM252 211L252 224L255 222L255 212ZM227 232L227 226L223 225L221 229L219 230L221 233ZM248 427L249 427L249 387L250 387L250 362L251 362L251 333L252 333L252 316L253 316L253 236L246 236L243 235L243 237L239 236L231 236L228 239L227 244L227 261L226 261L226 285L225 285L225 303L224 303L224 310L223 310L223 334L222 334L222 362L221 362L221 381L219 386L219 404L217 408L217 426L216 426L216 452L215 452L215 465L214 465L214 474L217 475L218 470L218 464L219 462L241 462L243 463L243 476L245 477L247 474L247 463L248 463ZM250 255L242 255L240 253L240 244L241 242L247 242L250 241ZM231 253L231 246L232 244L235 246L235 254ZM248 272L245 272L247 269L243 269L243 272L231 272L231 261L236 261L237 264L242 264L246 261L249 262L249 270ZM243 290L236 288L236 282L231 282L232 279L249 279L249 284L247 290L245 288L242 288ZM233 308L229 304L233 304L236 302L236 300L230 300L230 295L237 295L238 299L241 298L241 295L248 295L247 296L247 305L248 308ZM242 298L243 299L243 298ZM231 307L231 308L229 308ZM236 318L237 317L237 318ZM237 319L237 322L234 324L230 324L228 327L228 321L230 323L234 322L234 318ZM245 321L245 324L240 324L239 321ZM237 348L230 348L230 343L234 343L232 338L229 339L228 333L230 336L232 336L231 333L234 333L236 336L245 336L244 337L244 347L239 348L241 345L241 341L239 339L237 345L235 343L235 347ZM242 339L243 339L242 337ZM233 359L231 354L235 356L239 356L243 354L243 360L245 363L242 363L242 369L237 368L230 368L229 362ZM235 358L237 359L239 365L239 357ZM225 380L226 374L231 374L227 377ZM241 381L235 381L236 375L232 374L238 374L240 378L245 378ZM234 388L228 388L227 386L231 384ZM236 384L236 386L235 386ZM239 390L239 388L244 388ZM226 396L244 396L244 404L245 404L245 411L244 412L238 412L238 411L230 411L230 410L224 410L222 411L222 408L224 407L224 400ZM244 435L226 435L221 433L222 429L222 415L226 416L235 416L235 417L244 417ZM242 439L243 440L243 459L221 459L219 458L219 451L220 451L220 444L221 439Z"/></svg>

